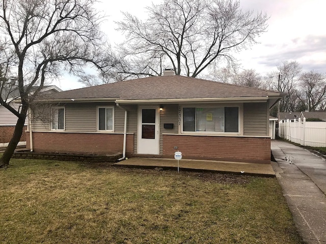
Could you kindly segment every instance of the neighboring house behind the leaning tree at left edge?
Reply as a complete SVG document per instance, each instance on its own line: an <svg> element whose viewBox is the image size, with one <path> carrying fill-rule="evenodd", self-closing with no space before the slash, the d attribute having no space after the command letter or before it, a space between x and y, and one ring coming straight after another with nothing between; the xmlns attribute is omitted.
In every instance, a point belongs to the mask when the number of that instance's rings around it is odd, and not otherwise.
<svg viewBox="0 0 326 244"><path fill-rule="evenodd" d="M60 88L55 85L44 86L41 90L41 93L44 94L51 94L51 93L58 93L62 92ZM6 94L7 93L7 94ZM19 92L17 89L3 90L3 96L7 97L7 103L10 103L12 107L14 107L17 111L19 109L20 104L15 103L14 100L19 98ZM13 113L11 113L8 109L4 106L0 105L0 147L6 147L11 140L11 137L14 133L15 126L17 123L17 117ZM25 130L27 126L27 119L25 121L25 128L20 138L20 142L18 145L25 145Z"/></svg>

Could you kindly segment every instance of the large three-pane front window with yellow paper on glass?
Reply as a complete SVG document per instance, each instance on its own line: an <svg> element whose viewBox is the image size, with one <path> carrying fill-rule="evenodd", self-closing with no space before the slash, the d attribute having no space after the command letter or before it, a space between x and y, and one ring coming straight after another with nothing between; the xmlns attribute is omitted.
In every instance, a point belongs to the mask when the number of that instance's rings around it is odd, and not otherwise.
<svg viewBox="0 0 326 244"><path fill-rule="evenodd" d="M239 132L239 107L184 107L184 132Z"/></svg>

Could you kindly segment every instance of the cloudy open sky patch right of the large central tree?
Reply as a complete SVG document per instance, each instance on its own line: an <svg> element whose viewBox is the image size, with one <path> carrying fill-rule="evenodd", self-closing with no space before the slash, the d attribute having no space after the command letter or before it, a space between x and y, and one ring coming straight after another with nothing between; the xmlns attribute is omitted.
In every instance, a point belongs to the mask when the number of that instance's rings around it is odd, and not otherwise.
<svg viewBox="0 0 326 244"><path fill-rule="evenodd" d="M296 60L304 70L326 72L326 30L323 0L242 0L243 9L266 12L268 31L260 44L242 51L238 57L246 69L265 73L275 70L284 60Z"/></svg>

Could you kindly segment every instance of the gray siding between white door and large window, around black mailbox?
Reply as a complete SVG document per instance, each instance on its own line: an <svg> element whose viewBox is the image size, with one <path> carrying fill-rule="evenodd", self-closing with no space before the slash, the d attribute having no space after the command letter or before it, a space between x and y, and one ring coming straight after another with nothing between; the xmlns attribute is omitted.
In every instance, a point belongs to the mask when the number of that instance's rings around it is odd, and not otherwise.
<svg viewBox="0 0 326 244"><path fill-rule="evenodd" d="M163 136L162 133L178 134L179 119L178 119L178 104L166 104L163 111L160 111L160 138L159 138L159 154L163 154ZM173 124L173 129L164 129L164 124Z"/></svg>

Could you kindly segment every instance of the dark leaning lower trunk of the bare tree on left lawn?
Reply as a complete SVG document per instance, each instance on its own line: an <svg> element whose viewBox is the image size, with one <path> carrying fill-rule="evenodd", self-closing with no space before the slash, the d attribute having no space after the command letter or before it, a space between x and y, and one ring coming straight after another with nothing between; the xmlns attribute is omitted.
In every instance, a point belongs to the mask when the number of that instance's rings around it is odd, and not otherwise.
<svg viewBox="0 0 326 244"><path fill-rule="evenodd" d="M14 151L16 149L16 146L18 145L18 142L20 140L22 130L24 128L25 124L25 118L18 118L17 124L15 126L14 134L9 142L9 145L7 146L5 153L0 158L0 168L8 168L9 161L14 154Z"/></svg>

